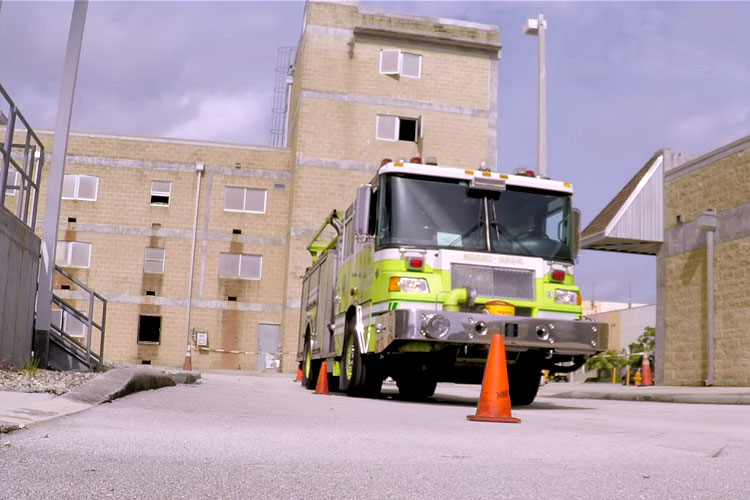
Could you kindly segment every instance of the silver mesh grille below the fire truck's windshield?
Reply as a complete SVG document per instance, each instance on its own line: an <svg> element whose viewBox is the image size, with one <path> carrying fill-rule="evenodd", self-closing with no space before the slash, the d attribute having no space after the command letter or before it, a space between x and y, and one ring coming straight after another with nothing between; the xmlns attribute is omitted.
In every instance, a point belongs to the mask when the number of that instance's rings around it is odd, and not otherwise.
<svg viewBox="0 0 750 500"><path fill-rule="evenodd" d="M451 288L471 287L479 297L534 300L534 271L453 264Z"/></svg>

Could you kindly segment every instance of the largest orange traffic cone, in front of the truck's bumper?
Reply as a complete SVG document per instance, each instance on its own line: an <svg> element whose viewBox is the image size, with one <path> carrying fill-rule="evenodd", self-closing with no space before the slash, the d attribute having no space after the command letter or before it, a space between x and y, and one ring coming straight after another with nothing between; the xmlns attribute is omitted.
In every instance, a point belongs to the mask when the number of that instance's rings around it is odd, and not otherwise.
<svg viewBox="0 0 750 500"><path fill-rule="evenodd" d="M493 335L490 354L484 367L482 392L479 393L477 414L466 418L474 422L518 423L521 419L510 416L510 390L508 367L505 364L505 343L500 335Z"/></svg>

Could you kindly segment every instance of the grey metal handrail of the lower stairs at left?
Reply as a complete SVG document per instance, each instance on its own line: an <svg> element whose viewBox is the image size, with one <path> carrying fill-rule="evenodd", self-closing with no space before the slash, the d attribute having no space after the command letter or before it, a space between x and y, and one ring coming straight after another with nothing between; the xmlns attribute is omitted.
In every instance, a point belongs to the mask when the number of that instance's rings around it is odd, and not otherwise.
<svg viewBox="0 0 750 500"><path fill-rule="evenodd" d="M94 363L92 363L92 360L95 362L97 368L101 368L104 362L104 332L105 332L104 326L105 326L105 321L107 317L107 299L105 299L100 294L93 291L91 288L84 285L80 280L74 278L68 272L60 268L59 266L55 266L55 272L60 273L62 276L72 281L76 286L78 286L81 290L83 290L84 292L88 294L88 314L84 314L83 312L77 310L71 304L63 300L61 297L58 297L54 293L52 294L52 302L54 304L57 304L64 313L72 315L78 321L80 321L81 323L85 325L86 345L85 345L85 348L83 348L83 346L79 348L80 353L82 356L85 355L85 362L89 366L89 368L92 368L94 366ZM94 321L94 306L96 305L95 300L97 299L102 304L101 319L98 323ZM58 328L55 325L50 325L50 327L52 330L55 331L55 333L57 333L64 339L68 340L72 346L75 346L76 348L80 346L80 343L77 340L75 340L73 337L71 337L64 331L64 327ZM92 333L94 329L99 331L99 352L98 353L91 352L91 337L92 337Z"/></svg>

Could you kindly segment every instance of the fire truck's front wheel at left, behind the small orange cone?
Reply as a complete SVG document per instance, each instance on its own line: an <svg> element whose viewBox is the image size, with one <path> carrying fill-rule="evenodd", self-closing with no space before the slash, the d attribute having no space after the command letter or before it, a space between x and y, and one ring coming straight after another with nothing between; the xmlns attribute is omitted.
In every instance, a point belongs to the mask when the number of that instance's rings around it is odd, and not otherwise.
<svg viewBox="0 0 750 500"><path fill-rule="evenodd" d="M360 353L354 319L351 319L344 335L339 389L349 396L377 397L382 387L383 377L376 360Z"/></svg>

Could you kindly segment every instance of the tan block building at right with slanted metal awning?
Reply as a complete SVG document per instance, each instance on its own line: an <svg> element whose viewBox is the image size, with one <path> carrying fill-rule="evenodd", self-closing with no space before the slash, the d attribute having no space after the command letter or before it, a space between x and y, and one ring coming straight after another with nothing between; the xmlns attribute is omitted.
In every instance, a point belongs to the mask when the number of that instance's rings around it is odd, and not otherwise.
<svg viewBox="0 0 750 500"><path fill-rule="evenodd" d="M656 256L657 382L750 385L749 179L750 136L659 151L582 233L584 248Z"/></svg>

